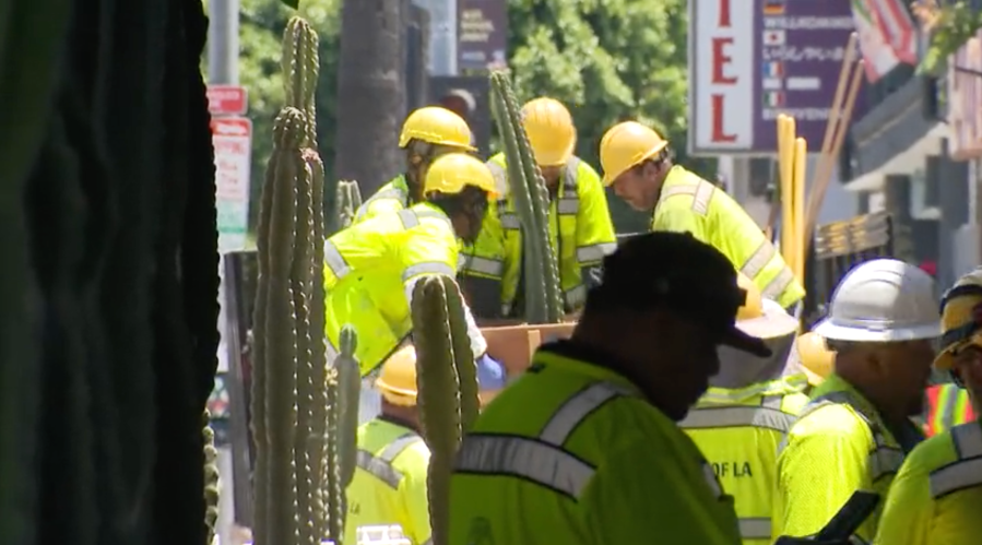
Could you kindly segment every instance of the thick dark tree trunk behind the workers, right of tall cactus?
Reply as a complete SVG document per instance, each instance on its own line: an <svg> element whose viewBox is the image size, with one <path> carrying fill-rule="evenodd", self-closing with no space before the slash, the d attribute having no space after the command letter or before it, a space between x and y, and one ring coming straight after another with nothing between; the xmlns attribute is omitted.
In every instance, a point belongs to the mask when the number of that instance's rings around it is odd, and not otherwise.
<svg viewBox="0 0 982 545"><path fill-rule="evenodd" d="M358 180L366 198L404 168L404 1L344 0L342 8L334 173Z"/></svg>

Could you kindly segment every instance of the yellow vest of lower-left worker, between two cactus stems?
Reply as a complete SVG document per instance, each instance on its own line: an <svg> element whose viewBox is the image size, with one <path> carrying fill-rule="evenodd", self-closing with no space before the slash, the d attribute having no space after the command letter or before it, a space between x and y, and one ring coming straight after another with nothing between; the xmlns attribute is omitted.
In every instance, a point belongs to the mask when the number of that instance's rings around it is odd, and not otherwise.
<svg viewBox="0 0 982 545"><path fill-rule="evenodd" d="M382 529L413 545L429 542L429 449L412 429L376 418L358 427L357 467L347 487L344 543ZM395 534L395 535L393 535Z"/></svg>

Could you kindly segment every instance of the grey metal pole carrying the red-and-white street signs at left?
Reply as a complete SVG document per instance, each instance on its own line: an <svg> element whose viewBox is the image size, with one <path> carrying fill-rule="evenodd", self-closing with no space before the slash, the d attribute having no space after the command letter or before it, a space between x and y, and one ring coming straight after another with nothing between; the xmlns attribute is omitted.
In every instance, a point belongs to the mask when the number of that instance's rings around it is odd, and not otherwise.
<svg viewBox="0 0 982 545"><path fill-rule="evenodd" d="M210 84L238 85L239 82L239 0L209 0L208 2L208 81ZM220 352L228 351L228 343L224 339L227 333L226 324L229 317L225 308L225 258L220 256L218 276L221 279L218 289L218 331L223 342L218 344ZM234 320L234 318L233 318ZM234 323L234 322L233 322ZM227 375L228 358L218 355L218 372ZM222 368L224 367L224 368ZM229 439L229 434L224 434ZM218 543L227 545L232 543L232 530L235 524L235 472L233 470L232 441L224 445L215 445L220 475L218 493L218 519L215 521L215 534ZM211 544L209 544L211 545Z"/></svg>

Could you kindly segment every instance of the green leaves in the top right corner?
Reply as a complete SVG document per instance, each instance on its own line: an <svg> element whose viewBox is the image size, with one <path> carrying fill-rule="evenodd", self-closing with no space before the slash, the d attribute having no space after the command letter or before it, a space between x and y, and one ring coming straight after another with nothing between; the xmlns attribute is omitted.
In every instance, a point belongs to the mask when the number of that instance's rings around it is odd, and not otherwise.
<svg viewBox="0 0 982 545"><path fill-rule="evenodd" d="M975 2L921 1L913 7L923 28L931 33L931 42L924 52L919 73L937 74L949 56L982 27L982 11L972 7Z"/></svg>

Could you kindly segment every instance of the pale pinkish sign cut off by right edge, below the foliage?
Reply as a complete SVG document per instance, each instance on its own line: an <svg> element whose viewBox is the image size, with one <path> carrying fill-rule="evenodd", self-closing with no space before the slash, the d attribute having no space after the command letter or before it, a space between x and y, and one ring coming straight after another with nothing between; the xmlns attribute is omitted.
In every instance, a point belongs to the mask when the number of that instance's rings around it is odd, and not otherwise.
<svg viewBox="0 0 982 545"><path fill-rule="evenodd" d="M982 31L948 58L948 152L955 161L982 157Z"/></svg>

